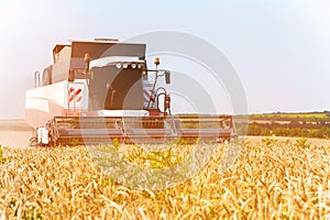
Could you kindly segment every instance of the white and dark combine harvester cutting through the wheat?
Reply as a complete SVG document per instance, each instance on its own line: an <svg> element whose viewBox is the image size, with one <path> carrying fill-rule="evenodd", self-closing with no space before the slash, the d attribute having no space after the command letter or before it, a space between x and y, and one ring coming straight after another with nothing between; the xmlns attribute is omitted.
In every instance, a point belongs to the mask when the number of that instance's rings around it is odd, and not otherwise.
<svg viewBox="0 0 330 220"><path fill-rule="evenodd" d="M54 64L36 72L25 98L31 145L223 142L235 138L231 116L173 116L170 96L157 87L170 73L148 69L145 44L73 41L53 50ZM154 75L154 76L152 76ZM152 80L151 80L152 78Z"/></svg>

